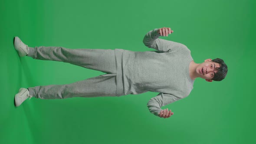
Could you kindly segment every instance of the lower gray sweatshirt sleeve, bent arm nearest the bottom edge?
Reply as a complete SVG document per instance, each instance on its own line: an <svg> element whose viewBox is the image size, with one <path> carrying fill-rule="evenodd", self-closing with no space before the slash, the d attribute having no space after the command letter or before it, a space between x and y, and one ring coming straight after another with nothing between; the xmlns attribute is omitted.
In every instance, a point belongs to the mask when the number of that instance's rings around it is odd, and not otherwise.
<svg viewBox="0 0 256 144"><path fill-rule="evenodd" d="M172 102L177 101L179 99L181 99L181 98L176 97L176 96L171 95L171 94L159 93L157 96L151 98L148 101L147 106L148 106L149 111L152 114L158 116L158 114L162 110L161 109L162 106L171 104Z"/></svg>

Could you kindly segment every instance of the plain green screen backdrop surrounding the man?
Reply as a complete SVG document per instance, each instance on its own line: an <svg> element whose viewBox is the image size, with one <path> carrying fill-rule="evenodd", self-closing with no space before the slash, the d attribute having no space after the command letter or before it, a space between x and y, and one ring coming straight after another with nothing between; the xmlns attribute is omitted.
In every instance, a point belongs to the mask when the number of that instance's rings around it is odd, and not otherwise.
<svg viewBox="0 0 256 144"><path fill-rule="evenodd" d="M1 0L0 144L255 144L254 0ZM68 84L104 73L19 57L14 36L35 46L148 51L148 31L171 27L194 61L222 58L222 82L196 79L187 98L162 107L158 93L42 100L13 105L20 87Z"/></svg>

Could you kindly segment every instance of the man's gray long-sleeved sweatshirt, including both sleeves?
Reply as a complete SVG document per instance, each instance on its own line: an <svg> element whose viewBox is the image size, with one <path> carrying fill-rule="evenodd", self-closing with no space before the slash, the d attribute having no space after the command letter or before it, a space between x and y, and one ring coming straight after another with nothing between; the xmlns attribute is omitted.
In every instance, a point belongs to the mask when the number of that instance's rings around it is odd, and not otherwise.
<svg viewBox="0 0 256 144"><path fill-rule="evenodd" d="M190 50L181 43L158 39L157 30L151 30L143 39L145 46L157 51L115 49L117 93L159 92L147 104L156 116L162 106L187 97L194 84L189 76L189 64L193 61Z"/></svg>

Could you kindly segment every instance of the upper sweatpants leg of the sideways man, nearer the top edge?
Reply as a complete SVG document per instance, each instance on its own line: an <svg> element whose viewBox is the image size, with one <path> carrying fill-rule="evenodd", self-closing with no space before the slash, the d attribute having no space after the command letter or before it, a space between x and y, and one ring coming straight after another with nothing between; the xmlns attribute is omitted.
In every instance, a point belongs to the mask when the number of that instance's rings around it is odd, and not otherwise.
<svg viewBox="0 0 256 144"><path fill-rule="evenodd" d="M33 59L69 62L88 69L116 73L115 50L112 49L66 49L63 47L29 47L28 56Z"/></svg>

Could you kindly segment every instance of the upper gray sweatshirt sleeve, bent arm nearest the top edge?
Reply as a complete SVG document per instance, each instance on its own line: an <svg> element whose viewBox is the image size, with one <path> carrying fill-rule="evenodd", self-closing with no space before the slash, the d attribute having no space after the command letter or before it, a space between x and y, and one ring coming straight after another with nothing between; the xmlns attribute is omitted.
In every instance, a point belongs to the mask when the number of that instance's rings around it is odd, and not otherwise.
<svg viewBox="0 0 256 144"><path fill-rule="evenodd" d="M160 52L169 52L173 51L174 49L187 49L187 46L176 43L166 39L158 39L160 34L158 33L158 29L154 29L149 31L143 39L143 43L148 48L156 49Z"/></svg>

